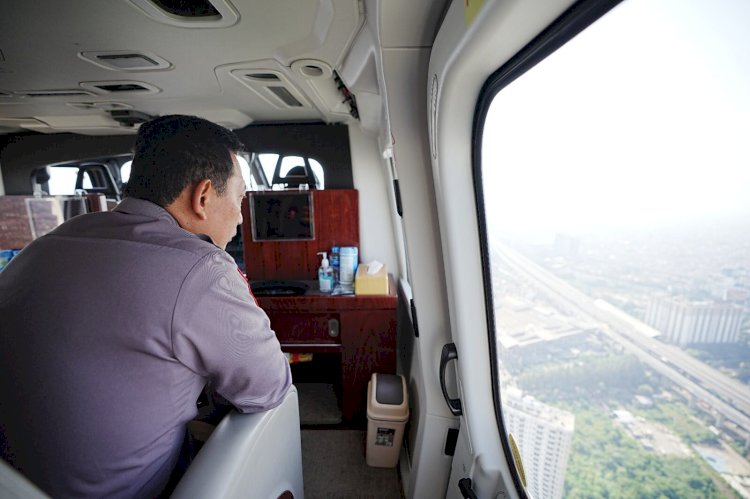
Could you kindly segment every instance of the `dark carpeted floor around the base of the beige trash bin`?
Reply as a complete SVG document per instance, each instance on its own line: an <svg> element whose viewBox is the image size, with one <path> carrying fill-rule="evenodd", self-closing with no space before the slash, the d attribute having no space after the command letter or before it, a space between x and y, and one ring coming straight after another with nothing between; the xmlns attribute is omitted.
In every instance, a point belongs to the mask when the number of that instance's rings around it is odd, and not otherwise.
<svg viewBox="0 0 750 499"><path fill-rule="evenodd" d="M307 499L402 499L396 469L365 463L366 432L302 430Z"/></svg>

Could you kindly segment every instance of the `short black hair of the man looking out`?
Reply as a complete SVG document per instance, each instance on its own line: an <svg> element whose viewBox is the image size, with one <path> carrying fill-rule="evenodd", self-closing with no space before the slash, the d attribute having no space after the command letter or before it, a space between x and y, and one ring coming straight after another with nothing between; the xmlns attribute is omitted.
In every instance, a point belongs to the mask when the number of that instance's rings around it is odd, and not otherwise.
<svg viewBox="0 0 750 499"><path fill-rule="evenodd" d="M165 207L203 179L221 195L232 176L232 153L243 149L234 132L203 118L153 119L138 129L124 195Z"/></svg>

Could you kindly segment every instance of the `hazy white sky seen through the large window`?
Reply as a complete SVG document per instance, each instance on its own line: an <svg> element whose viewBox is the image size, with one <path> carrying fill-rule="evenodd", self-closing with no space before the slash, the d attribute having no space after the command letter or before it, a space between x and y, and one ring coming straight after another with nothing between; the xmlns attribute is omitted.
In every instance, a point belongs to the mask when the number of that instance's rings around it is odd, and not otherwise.
<svg viewBox="0 0 750 499"><path fill-rule="evenodd" d="M626 0L502 90L488 218L573 232L750 218L748 26L747 0Z"/></svg>

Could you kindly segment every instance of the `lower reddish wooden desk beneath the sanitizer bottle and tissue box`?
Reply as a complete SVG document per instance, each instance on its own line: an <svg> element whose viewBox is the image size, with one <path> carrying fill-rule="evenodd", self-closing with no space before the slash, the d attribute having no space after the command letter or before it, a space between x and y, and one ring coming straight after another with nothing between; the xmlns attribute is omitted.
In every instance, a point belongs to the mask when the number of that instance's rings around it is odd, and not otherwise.
<svg viewBox="0 0 750 499"><path fill-rule="evenodd" d="M370 375L396 372L396 302L395 292L258 297L282 350L340 354L341 412L350 421L365 415Z"/></svg>

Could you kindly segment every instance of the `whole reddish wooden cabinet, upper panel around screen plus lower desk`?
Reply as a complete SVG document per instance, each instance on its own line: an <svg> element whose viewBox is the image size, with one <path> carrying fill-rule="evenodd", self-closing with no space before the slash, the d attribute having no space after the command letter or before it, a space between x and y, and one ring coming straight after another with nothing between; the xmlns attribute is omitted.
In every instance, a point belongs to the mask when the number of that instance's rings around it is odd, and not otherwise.
<svg viewBox="0 0 750 499"><path fill-rule="evenodd" d="M313 239L255 241L250 210L255 194L248 192L242 205L245 268L253 281L290 279L310 284L312 291L303 296L259 296L258 303L271 318L282 350L325 354L319 357L340 362L330 371L340 373L336 385L341 387L341 412L351 421L365 414L370 375L396 372L397 297L393 283L384 296L330 296L315 291L317 281L308 279L317 275L318 252L332 246L359 246L359 197L354 189L310 194Z"/></svg>

